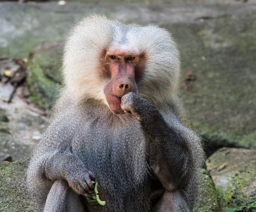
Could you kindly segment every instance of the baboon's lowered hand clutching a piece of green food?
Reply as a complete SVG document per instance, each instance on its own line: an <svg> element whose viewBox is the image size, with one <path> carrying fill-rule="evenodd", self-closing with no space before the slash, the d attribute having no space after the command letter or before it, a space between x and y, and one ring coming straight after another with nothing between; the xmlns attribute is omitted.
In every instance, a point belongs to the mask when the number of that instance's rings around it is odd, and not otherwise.
<svg viewBox="0 0 256 212"><path fill-rule="evenodd" d="M92 199L93 197L88 191L93 189L93 183L95 176L90 171L74 170L72 173L67 175L67 182L69 186L77 193L84 195L85 197Z"/></svg>

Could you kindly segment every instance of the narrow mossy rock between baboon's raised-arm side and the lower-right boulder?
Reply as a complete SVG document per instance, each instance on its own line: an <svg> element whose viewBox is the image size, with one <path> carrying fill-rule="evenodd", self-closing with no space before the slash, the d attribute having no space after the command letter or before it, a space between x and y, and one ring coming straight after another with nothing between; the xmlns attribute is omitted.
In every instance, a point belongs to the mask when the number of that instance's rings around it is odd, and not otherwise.
<svg viewBox="0 0 256 212"><path fill-rule="evenodd" d="M200 185L198 198L194 206L195 212L217 212L220 211L217 193L212 177L205 169L200 173Z"/></svg>

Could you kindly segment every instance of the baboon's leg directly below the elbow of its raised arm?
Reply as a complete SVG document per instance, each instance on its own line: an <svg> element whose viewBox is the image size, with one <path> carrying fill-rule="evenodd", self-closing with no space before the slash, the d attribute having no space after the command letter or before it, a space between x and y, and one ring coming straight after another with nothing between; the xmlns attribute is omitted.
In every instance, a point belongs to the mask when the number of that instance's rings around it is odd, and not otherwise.
<svg viewBox="0 0 256 212"><path fill-rule="evenodd" d="M189 212L189 207L178 191L165 191L152 212Z"/></svg>

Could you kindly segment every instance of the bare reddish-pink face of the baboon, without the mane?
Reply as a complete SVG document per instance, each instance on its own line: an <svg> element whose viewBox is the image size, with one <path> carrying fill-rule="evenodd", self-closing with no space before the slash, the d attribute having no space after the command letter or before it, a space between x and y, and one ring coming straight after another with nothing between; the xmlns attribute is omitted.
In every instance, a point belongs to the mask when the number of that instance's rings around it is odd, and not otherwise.
<svg viewBox="0 0 256 212"><path fill-rule="evenodd" d="M143 75L145 57L120 50L105 51L105 70L110 81L104 88L109 108L114 114L124 114L121 98L126 93L137 93L137 83Z"/></svg>

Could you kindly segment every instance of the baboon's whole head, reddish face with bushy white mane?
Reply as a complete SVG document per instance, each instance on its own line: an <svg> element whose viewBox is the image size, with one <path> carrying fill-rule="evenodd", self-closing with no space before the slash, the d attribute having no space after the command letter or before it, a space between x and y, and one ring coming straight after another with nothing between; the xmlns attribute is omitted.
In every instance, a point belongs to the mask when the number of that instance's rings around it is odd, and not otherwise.
<svg viewBox="0 0 256 212"><path fill-rule="evenodd" d="M64 85L74 100L90 97L124 114L121 98L138 93L156 106L177 90L179 54L168 31L156 25L123 24L102 16L81 21L67 39Z"/></svg>

